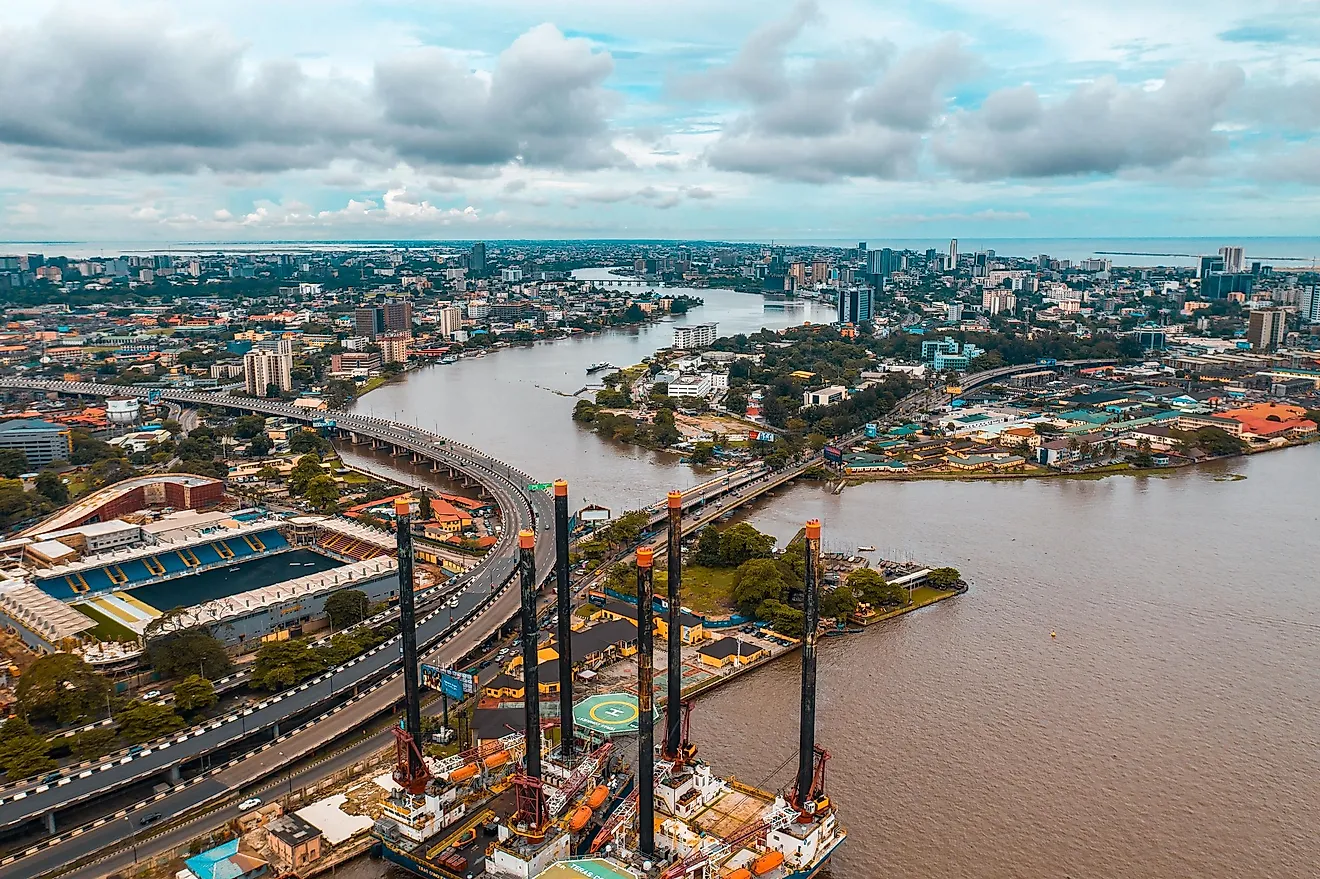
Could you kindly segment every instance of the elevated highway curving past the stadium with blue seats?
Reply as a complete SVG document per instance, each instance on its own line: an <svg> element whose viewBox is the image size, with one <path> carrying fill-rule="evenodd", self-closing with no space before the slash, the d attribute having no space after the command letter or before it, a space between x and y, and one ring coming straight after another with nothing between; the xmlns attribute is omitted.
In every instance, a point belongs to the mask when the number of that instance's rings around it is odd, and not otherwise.
<svg viewBox="0 0 1320 879"><path fill-rule="evenodd" d="M81 381L0 379L0 388L3 387L87 396L123 396L128 393L144 399L152 393L141 388L123 388ZM545 492L528 491L532 479L527 474L495 461L470 446L383 418L370 418L345 412L308 412L306 409L280 401L234 397L224 393L164 392L157 395L156 399L162 403L216 405L244 412L277 414L309 422L334 420L337 428L341 430L370 437L396 449L413 451L421 458L453 467L477 479L502 511L503 532L500 541L487 553L479 565L459 578L463 593L459 599L459 607L453 612L453 624L450 624L447 608L428 614L420 620L417 632L418 645L428 649L440 644L442 645L441 655L436 659L441 663L454 661L461 659L473 647L477 647L488 634L496 631L516 610L517 590L504 589L507 581L516 570L516 532L520 528L535 528L537 524L543 524L548 529L553 519L550 498ZM543 529L537 536L537 573L544 578L553 570L554 549L548 531ZM459 635L462 636L459 637ZM129 781L168 772L172 767L243 738L248 730L279 725L286 718L325 702L334 694L342 694L343 690L360 689L364 685L374 684L391 668L396 667L397 663L399 647L396 637L380 648L334 669L331 673L308 681L293 690L276 694L242 714L214 721L203 729L187 731L187 735L181 734L162 747L148 748L132 758L120 758L115 762L83 769L61 777L58 783L51 785L36 784L18 788L13 792L7 791L5 796L0 798L0 828L22 824L50 814L70 804L99 796ZM360 725L363 718L392 706L400 696L401 682L396 676L388 680L388 685L375 685L374 689L352 703L352 710L341 710L334 717L326 718L321 723L310 725L308 729L282 740L279 747L279 752L281 754L280 764L288 763L296 755L321 747L337 735ZM243 765L252 764L248 768L256 771L260 768L256 765L259 763L261 763L260 758L253 758L243 762ZM156 808L168 805L172 813L185 810L189 805L183 800L194 798L197 792L206 787L209 787L209 783L193 784L190 781L187 785L176 785L176 793L172 793L170 797L177 795L193 796L183 796L177 808L173 801L169 804L160 802ZM180 788L183 789L181 791ZM121 835L121 833L116 833ZM55 846L61 850L61 862L70 861L70 855L78 857L77 851L67 851L70 847L84 851L92 850L90 847L92 843L90 837L95 835L98 835L95 831L88 831L75 837L81 845ZM58 839L59 837L41 845L45 846ZM29 858L22 858L15 866L21 866L25 875L37 875L42 871L37 863L28 862ZM0 868L0 875L8 875L7 870Z"/></svg>

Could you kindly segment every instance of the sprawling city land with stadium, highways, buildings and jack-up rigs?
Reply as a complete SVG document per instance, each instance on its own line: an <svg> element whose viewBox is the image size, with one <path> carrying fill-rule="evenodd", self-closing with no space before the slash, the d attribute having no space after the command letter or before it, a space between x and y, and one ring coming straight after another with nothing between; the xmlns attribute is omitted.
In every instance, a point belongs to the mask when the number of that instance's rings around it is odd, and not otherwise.
<svg viewBox="0 0 1320 879"><path fill-rule="evenodd" d="M845 835L828 754L799 750L779 792L731 784L685 711L800 655L809 735L817 643L969 583L817 523L780 544L739 508L795 480L1158 474L1320 421L1320 275L1232 244L1160 268L956 240L0 268L4 875L371 853L430 876L808 875ZM717 293L779 329L723 334ZM557 474L360 410L639 327L660 347L557 393L573 430L688 469L649 505L570 508Z"/></svg>

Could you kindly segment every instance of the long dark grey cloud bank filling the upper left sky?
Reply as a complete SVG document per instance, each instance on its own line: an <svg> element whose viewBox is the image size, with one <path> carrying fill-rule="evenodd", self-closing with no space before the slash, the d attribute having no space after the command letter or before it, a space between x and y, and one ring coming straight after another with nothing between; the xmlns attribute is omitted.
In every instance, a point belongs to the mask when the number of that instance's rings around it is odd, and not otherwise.
<svg viewBox="0 0 1320 879"><path fill-rule="evenodd" d="M366 82L255 62L216 29L132 18L50 17L4 37L0 149L59 173L401 160L470 177L623 162L603 86L612 59L553 25L517 37L488 73L424 48L378 62Z"/></svg>

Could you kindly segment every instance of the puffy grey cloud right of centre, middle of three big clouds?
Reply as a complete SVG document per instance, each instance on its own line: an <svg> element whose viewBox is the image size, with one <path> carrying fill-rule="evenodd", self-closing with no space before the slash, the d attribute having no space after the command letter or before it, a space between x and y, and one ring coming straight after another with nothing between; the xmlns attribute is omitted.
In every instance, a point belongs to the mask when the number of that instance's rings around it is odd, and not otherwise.
<svg viewBox="0 0 1320 879"><path fill-rule="evenodd" d="M682 83L743 108L705 150L719 170L801 182L915 174L921 137L941 117L945 91L977 65L948 37L899 54L887 41L857 40L810 63L789 58L820 21L803 3L763 25L734 59Z"/></svg>

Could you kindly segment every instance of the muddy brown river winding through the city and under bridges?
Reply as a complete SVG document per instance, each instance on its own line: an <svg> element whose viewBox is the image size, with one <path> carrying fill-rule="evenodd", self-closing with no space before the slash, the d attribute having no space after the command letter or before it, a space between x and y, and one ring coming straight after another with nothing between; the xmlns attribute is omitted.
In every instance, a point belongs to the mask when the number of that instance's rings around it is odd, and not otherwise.
<svg viewBox="0 0 1320 879"><path fill-rule="evenodd" d="M755 297L701 294L709 310L688 319L756 323ZM574 391L586 363L667 342L657 325L503 351L411 374L360 407L623 509L696 475L597 438L541 388ZM822 648L818 742L851 831L832 875L1315 876L1317 474L1309 446L1094 482L803 483L747 511L781 541L818 516L826 548L874 544L973 583ZM793 661L702 698L701 754L744 781L785 781L764 773L796 747L796 701Z"/></svg>

